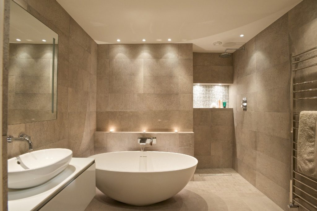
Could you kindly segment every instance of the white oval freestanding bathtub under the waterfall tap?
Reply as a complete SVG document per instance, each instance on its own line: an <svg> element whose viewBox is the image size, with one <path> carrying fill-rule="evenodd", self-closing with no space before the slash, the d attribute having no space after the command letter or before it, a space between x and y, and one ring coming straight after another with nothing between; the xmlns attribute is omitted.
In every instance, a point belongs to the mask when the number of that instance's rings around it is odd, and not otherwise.
<svg viewBox="0 0 317 211"><path fill-rule="evenodd" d="M197 159L172 152L108 152L96 162L96 187L127 204L149 205L181 191L191 180Z"/></svg>

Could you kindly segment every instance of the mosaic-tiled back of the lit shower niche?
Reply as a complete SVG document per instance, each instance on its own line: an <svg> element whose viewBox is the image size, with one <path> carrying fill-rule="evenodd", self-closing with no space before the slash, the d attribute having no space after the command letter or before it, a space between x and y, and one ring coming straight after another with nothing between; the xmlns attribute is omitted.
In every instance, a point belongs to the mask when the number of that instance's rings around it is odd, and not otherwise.
<svg viewBox="0 0 317 211"><path fill-rule="evenodd" d="M229 85L193 85L194 109L210 108L211 103L216 103L222 99L227 102L226 108L229 108Z"/></svg>

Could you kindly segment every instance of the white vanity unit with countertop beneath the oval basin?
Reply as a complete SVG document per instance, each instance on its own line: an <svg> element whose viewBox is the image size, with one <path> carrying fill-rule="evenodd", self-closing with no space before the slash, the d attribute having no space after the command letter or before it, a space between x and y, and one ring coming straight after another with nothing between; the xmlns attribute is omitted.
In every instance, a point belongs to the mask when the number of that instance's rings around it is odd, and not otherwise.
<svg viewBox="0 0 317 211"><path fill-rule="evenodd" d="M72 158L48 182L27 189L9 189L8 210L85 210L96 193L94 158Z"/></svg>

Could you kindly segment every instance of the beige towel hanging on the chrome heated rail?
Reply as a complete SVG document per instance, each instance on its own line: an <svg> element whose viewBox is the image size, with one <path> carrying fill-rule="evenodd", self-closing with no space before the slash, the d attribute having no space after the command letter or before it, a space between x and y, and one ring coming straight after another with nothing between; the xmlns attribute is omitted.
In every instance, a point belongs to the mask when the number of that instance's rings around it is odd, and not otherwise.
<svg viewBox="0 0 317 211"><path fill-rule="evenodd" d="M297 169L317 178L317 111L302 111L297 138Z"/></svg>

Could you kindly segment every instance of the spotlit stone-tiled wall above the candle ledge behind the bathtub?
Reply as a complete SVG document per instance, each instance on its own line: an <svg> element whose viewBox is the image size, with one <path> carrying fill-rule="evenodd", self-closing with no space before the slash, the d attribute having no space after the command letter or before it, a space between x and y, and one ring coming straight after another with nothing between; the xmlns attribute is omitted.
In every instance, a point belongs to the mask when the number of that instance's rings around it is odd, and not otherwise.
<svg viewBox="0 0 317 211"><path fill-rule="evenodd" d="M192 44L106 44L97 51L98 131L192 131Z"/></svg>

